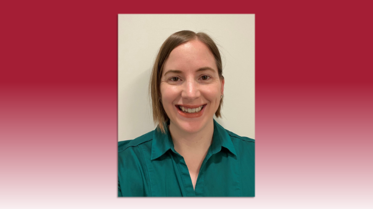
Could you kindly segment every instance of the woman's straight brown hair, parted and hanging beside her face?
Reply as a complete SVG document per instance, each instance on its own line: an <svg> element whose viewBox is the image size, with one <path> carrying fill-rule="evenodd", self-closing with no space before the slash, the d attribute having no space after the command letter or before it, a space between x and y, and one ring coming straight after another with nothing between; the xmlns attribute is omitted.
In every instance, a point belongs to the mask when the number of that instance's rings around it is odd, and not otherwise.
<svg viewBox="0 0 373 209"><path fill-rule="evenodd" d="M220 79L224 79L222 58L220 57L219 49L209 35L203 32L195 33L190 30L182 30L170 35L159 49L156 61L154 62L153 70L151 72L149 84L149 91L151 93L151 102L153 106L153 120L154 123L158 123L157 128L159 128L163 133L165 133L166 129L165 123L169 123L170 120L163 109L161 101L160 80L162 78L163 66L173 49L192 40L201 41L202 43L206 44L207 47L209 47L210 51L214 55L219 77ZM220 100L219 107L215 112L216 117L221 117L220 109L222 105L223 99Z"/></svg>

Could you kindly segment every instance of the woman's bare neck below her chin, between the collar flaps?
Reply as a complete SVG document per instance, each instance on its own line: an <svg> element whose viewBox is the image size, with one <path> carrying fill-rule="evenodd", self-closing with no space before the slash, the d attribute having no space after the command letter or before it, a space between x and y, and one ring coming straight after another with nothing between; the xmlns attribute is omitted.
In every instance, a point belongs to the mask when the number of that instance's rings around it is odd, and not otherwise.
<svg viewBox="0 0 373 209"><path fill-rule="evenodd" d="M211 120L201 130L192 133L177 128L173 123L170 123L169 130L175 151L183 157L185 155L206 155L212 143L214 122Z"/></svg>

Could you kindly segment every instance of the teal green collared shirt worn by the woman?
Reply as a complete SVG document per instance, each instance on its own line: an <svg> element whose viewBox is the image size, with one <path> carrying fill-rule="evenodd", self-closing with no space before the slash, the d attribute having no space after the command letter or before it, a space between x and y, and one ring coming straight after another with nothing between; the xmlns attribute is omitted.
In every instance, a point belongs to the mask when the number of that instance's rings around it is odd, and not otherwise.
<svg viewBox="0 0 373 209"><path fill-rule="evenodd" d="M254 197L254 159L254 139L233 134L214 120L213 141L194 190L169 131L155 129L118 142L118 196Z"/></svg>

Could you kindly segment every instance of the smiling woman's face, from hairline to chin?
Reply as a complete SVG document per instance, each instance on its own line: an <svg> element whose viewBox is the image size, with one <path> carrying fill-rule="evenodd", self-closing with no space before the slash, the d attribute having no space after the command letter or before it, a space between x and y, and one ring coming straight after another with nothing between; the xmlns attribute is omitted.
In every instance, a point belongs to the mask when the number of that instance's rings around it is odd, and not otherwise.
<svg viewBox="0 0 373 209"><path fill-rule="evenodd" d="M223 87L214 56L205 44L194 40L173 49L160 83L170 126L190 133L201 131L212 122Z"/></svg>

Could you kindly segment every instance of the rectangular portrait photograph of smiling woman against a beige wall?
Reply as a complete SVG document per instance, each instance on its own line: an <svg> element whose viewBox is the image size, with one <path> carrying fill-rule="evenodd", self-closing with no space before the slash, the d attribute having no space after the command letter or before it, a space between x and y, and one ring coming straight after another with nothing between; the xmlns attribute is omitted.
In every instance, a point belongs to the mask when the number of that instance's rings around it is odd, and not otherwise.
<svg viewBox="0 0 373 209"><path fill-rule="evenodd" d="M118 197L255 196L255 15L118 15Z"/></svg>

